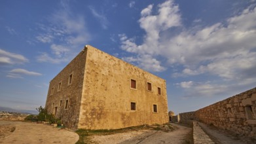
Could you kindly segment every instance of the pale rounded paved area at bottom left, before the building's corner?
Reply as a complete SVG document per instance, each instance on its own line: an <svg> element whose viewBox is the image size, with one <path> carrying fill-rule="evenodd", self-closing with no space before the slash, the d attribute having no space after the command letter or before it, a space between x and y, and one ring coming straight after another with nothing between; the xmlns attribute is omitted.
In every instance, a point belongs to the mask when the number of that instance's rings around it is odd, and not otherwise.
<svg viewBox="0 0 256 144"><path fill-rule="evenodd" d="M6 135L13 126L14 132ZM0 120L0 130L0 135L4 135L0 137L0 143L76 143L79 139L75 132L30 122Z"/></svg>

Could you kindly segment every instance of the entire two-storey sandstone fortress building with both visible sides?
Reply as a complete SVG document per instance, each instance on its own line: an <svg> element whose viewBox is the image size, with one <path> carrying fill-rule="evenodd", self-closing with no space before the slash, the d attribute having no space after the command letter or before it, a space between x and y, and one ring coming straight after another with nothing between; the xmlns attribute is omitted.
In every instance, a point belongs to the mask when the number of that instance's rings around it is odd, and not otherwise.
<svg viewBox="0 0 256 144"><path fill-rule="evenodd" d="M86 45L50 81L45 108L73 130L163 124L166 81Z"/></svg>

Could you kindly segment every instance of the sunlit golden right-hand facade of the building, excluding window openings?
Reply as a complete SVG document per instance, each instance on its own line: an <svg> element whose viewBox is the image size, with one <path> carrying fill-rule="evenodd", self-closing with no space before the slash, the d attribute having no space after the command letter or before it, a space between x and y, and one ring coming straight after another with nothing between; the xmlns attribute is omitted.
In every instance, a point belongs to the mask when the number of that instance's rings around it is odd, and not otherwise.
<svg viewBox="0 0 256 144"><path fill-rule="evenodd" d="M79 128L117 129L168 122L164 79L92 46L87 46L87 51ZM136 80L136 89L131 88L131 79ZM147 82L152 84L151 91ZM131 102L136 103L136 111L131 111ZM153 105L157 105L157 113Z"/></svg>

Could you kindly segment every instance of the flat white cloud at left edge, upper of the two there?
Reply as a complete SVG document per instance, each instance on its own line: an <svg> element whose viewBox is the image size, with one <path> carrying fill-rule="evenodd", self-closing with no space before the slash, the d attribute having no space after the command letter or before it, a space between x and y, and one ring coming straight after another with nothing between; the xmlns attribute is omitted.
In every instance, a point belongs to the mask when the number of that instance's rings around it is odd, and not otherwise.
<svg viewBox="0 0 256 144"><path fill-rule="evenodd" d="M0 48L0 64L16 64L25 62L28 62L28 60L21 54L7 52Z"/></svg>

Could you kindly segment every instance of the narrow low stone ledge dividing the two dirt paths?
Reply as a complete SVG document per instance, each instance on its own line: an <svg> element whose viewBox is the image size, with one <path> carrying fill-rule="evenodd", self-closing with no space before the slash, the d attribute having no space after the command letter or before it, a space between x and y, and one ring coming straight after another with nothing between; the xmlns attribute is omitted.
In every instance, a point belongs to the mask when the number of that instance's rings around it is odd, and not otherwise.
<svg viewBox="0 0 256 144"><path fill-rule="evenodd" d="M202 128L199 126L198 122L193 121L193 139L194 139L194 144L199 144L199 143L214 143L211 141L210 137L202 130Z"/></svg>

